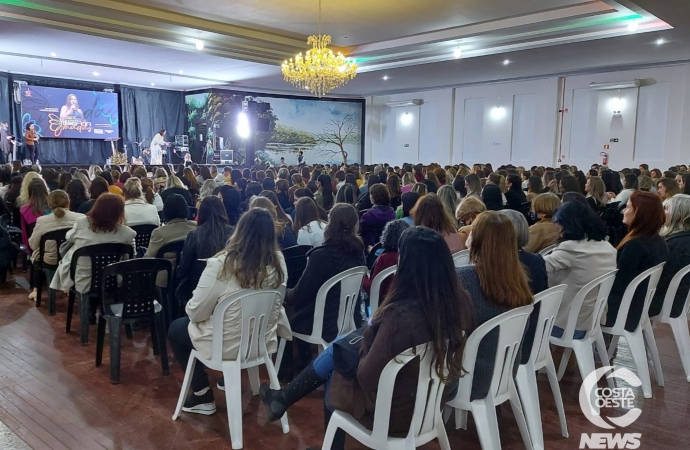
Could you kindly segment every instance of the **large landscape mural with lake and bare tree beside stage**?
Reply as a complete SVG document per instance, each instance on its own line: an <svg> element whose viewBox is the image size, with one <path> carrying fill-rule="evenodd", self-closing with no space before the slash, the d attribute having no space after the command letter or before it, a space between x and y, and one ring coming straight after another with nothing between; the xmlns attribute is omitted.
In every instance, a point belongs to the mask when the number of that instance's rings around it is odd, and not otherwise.
<svg viewBox="0 0 690 450"><path fill-rule="evenodd" d="M255 108L243 108L251 97ZM202 163L214 150L234 150L244 164L253 146L254 163L297 165L301 150L306 164L361 163L363 102L252 96L218 91L186 96L187 134L193 159ZM262 104L264 107L262 108ZM270 104L270 109L265 108ZM243 111L243 109L245 111ZM242 115L249 118L249 136L238 132ZM203 141L203 142L200 142ZM198 159L197 159L198 158Z"/></svg>

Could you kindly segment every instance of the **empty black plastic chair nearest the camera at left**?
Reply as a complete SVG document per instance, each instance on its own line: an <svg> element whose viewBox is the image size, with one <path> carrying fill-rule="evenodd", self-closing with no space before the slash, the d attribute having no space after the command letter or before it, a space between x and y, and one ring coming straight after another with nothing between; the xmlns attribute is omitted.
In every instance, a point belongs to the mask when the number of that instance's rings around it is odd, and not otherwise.
<svg viewBox="0 0 690 450"><path fill-rule="evenodd" d="M101 310L96 340L96 367L103 362L106 321L110 325L110 382L120 383L120 331L122 325L148 320L151 325L153 354L160 355L163 375L170 373L165 343L163 308L158 300L156 277L167 272L168 288L172 264L166 259L132 259L110 264L101 274Z"/></svg>

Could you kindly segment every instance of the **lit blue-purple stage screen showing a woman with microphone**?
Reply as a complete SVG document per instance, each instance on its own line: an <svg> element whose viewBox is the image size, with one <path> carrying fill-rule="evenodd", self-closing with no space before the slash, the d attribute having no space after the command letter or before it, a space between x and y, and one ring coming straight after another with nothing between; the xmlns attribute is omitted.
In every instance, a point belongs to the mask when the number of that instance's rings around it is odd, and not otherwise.
<svg viewBox="0 0 690 450"><path fill-rule="evenodd" d="M117 94L22 86L22 130L33 123L43 138L120 137Z"/></svg>

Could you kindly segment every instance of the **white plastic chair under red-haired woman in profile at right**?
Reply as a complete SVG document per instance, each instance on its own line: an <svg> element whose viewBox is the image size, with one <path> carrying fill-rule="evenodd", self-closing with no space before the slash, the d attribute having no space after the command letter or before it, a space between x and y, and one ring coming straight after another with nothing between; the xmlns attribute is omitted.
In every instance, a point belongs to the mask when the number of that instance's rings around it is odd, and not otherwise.
<svg viewBox="0 0 690 450"><path fill-rule="evenodd" d="M651 354L652 361L654 363L656 382L659 386L664 385L664 374L661 371L659 350L656 347L654 332L652 331L652 326L649 322L648 316L649 305L652 303L652 298L654 297L654 292L656 291L656 285L661 277L661 272L664 270L664 264L666 263L663 262L659 265L656 265L636 276L635 279L630 282L628 287L625 288L625 293L623 294L623 299L621 300L616 322L611 327L601 327L601 331L604 333L609 333L613 336L611 339L611 345L609 346L609 359L613 358L613 352L618 345L618 338L620 336L623 336L628 342L630 353L632 354L633 362L635 363L635 368L637 369L637 376L642 382L642 391L644 392L645 398L652 398L652 382L649 377L649 367L647 366L645 340L647 341L647 348L649 349L649 353ZM646 279L649 279L649 283L647 284L647 293L645 294L642 317L640 318L640 322L637 324L635 331L629 332L625 329L625 322L628 318L628 310L630 309L630 304L632 303L633 295L635 294L637 287Z"/></svg>

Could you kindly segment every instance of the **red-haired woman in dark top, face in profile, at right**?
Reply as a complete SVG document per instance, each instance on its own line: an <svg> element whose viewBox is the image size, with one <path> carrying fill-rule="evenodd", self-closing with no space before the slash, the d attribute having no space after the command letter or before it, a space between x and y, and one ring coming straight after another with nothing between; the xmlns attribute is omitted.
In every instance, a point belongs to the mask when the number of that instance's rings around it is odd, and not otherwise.
<svg viewBox="0 0 690 450"><path fill-rule="evenodd" d="M618 316L623 294L628 284L647 269L668 260L668 246L659 235L666 222L661 199L651 192L634 191L623 210L623 223L628 234L616 248L618 273L609 294L606 326L613 326ZM640 284L633 295L625 322L625 329L635 331L642 318L647 281Z"/></svg>

